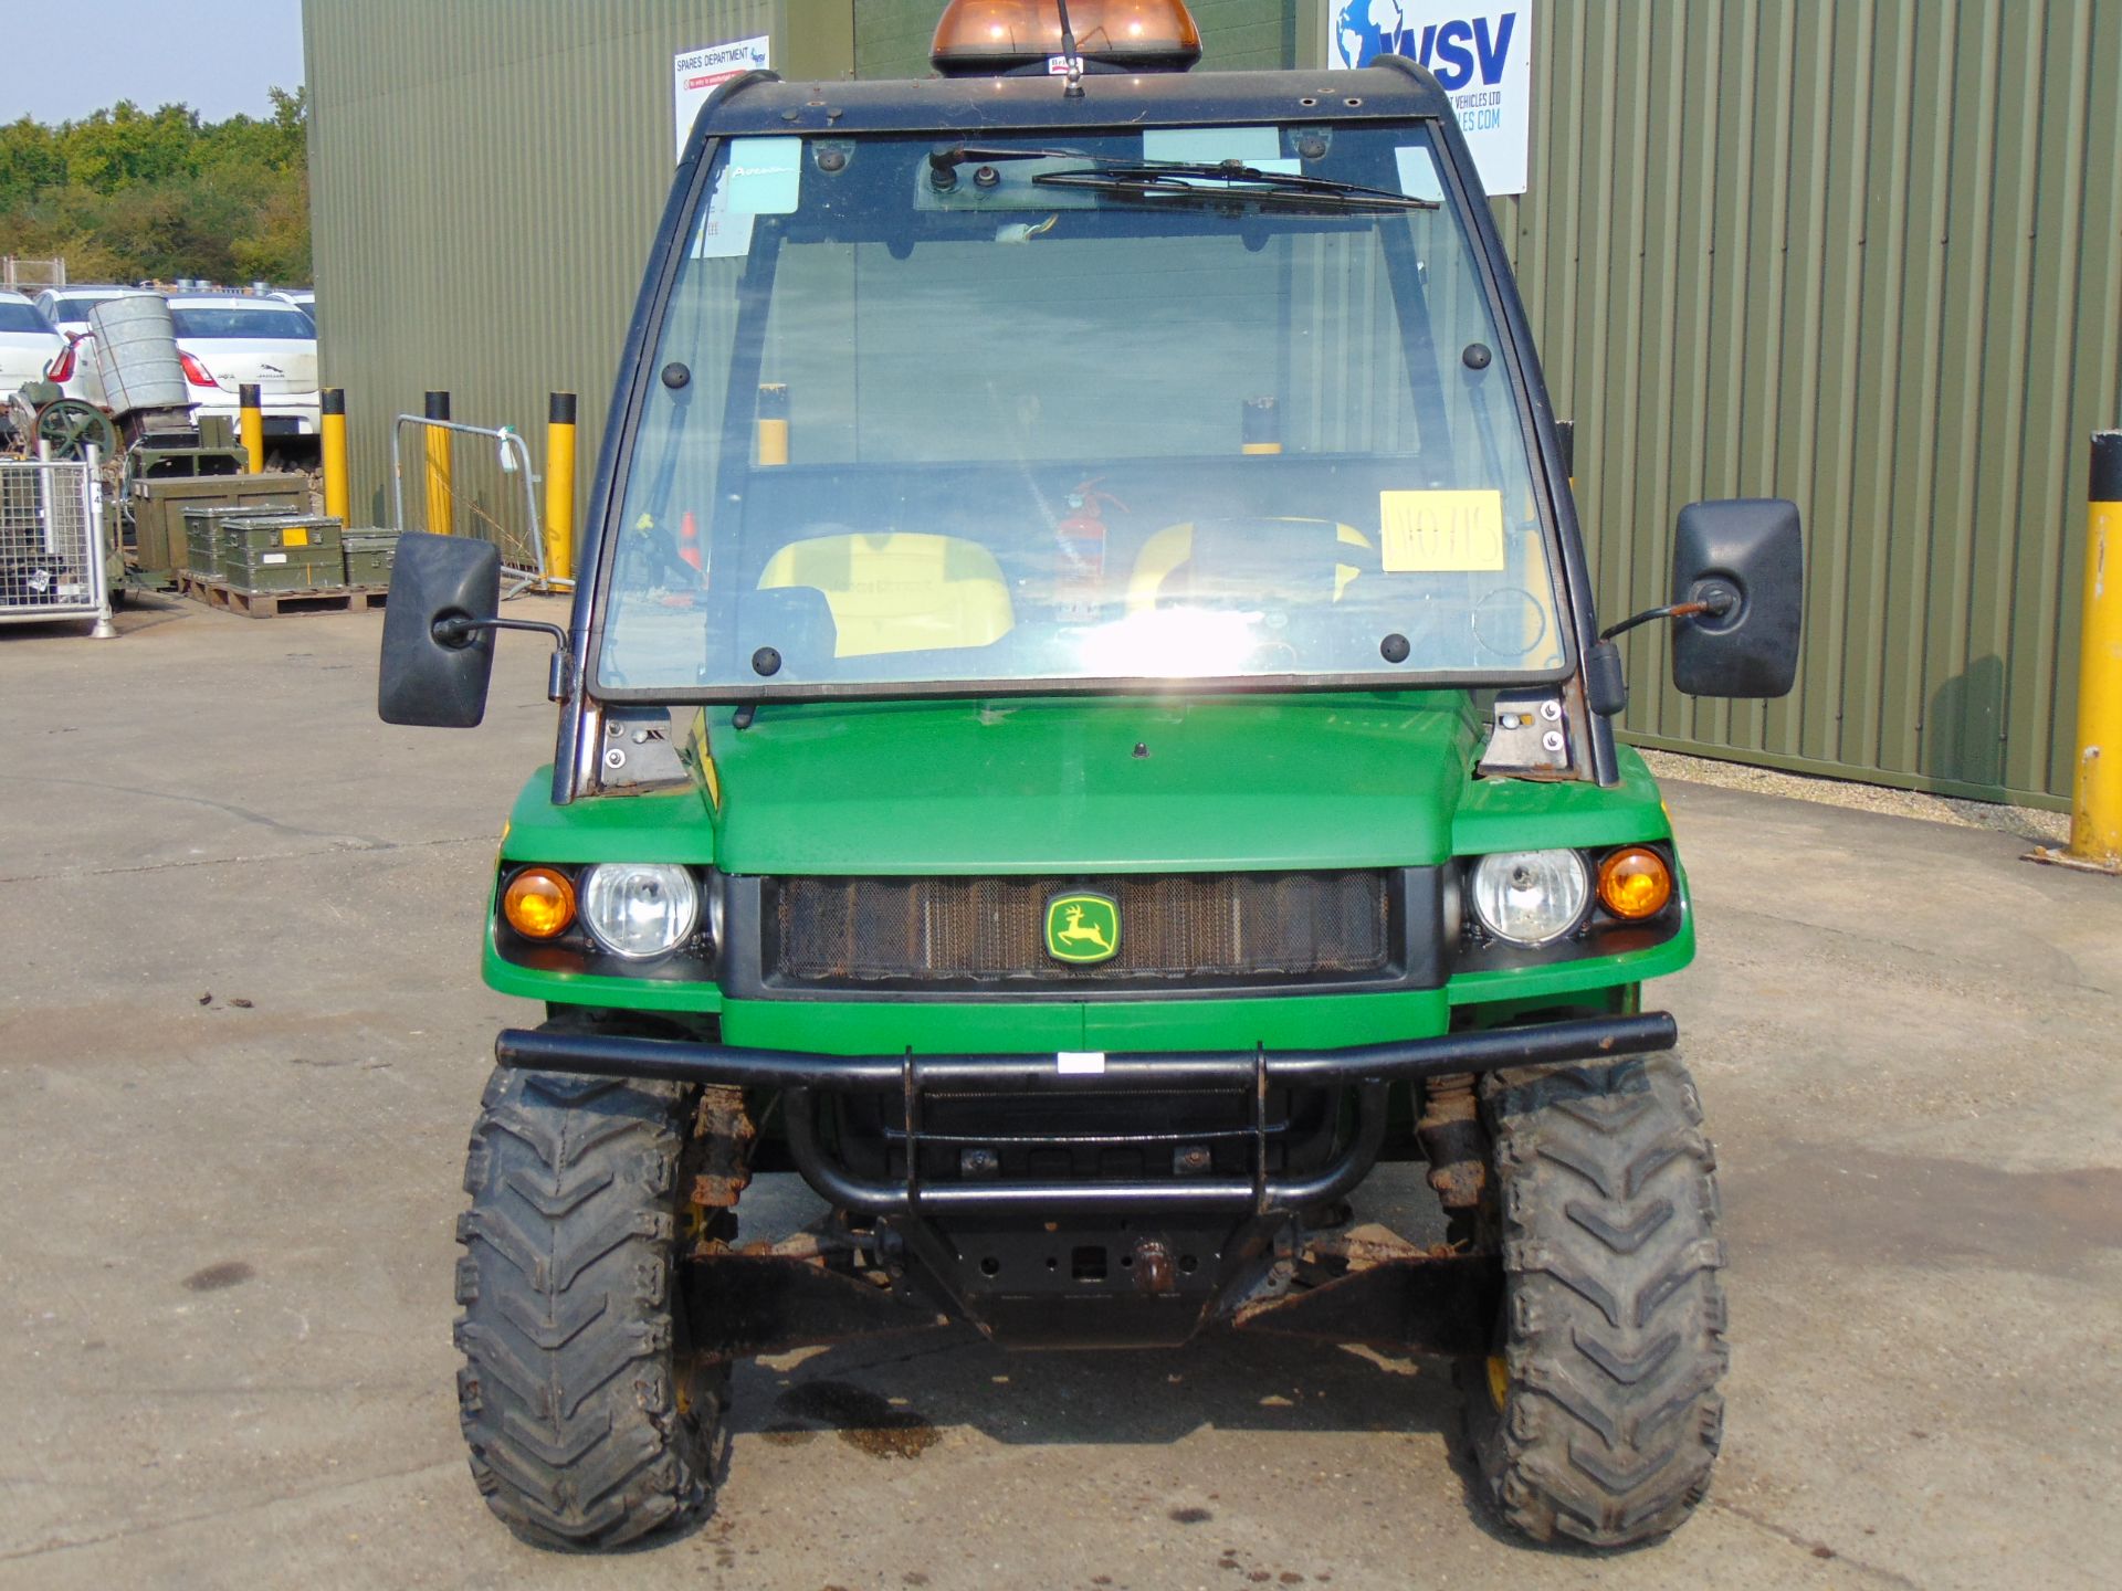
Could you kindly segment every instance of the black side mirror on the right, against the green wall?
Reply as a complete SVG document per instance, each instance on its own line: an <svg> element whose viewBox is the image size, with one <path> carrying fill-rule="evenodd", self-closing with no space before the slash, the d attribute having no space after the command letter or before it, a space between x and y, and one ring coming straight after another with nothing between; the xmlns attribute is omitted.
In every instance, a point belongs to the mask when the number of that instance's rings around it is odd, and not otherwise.
<svg viewBox="0 0 2122 1591"><path fill-rule="evenodd" d="M1797 677L1806 549L1780 496L1689 503L1672 537L1672 683L1689 696L1787 696Z"/></svg>

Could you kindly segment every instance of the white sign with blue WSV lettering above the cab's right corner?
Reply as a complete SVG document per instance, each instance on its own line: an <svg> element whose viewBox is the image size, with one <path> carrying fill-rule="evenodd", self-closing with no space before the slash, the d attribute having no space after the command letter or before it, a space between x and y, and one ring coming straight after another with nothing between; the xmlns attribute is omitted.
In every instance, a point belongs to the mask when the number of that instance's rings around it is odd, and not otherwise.
<svg viewBox="0 0 2122 1591"><path fill-rule="evenodd" d="M1407 55L1437 74L1490 193L1524 193L1534 0L1328 0L1326 66Z"/></svg>

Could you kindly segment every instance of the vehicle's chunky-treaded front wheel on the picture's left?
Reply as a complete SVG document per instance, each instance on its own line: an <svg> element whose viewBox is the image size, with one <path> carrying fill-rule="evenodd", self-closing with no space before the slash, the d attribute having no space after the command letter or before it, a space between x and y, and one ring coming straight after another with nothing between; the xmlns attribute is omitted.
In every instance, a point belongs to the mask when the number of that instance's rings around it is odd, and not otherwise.
<svg viewBox="0 0 2122 1591"><path fill-rule="evenodd" d="M685 1090L494 1071L456 1237L458 1406L488 1508L618 1546L705 1506L728 1368L688 1351L675 1275Z"/></svg>

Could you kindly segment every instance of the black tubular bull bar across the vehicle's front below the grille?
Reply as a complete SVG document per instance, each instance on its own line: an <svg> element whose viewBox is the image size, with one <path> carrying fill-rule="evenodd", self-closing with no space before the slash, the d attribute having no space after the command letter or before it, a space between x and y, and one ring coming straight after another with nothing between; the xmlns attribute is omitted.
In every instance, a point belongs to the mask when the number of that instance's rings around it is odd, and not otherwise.
<svg viewBox="0 0 2122 1591"><path fill-rule="evenodd" d="M1596 1016L1528 1027L1492 1027L1341 1050L1224 1050L1161 1054L938 1054L834 1056L800 1050L747 1050L685 1039L505 1029L494 1061L533 1071L601 1078L660 1078L787 1090L789 1154L804 1182L840 1209L874 1216L942 1211L1188 1209L1271 1213L1341 1199L1377 1162L1386 1137L1386 1086L1460 1071L1498 1071L1566 1061L1615 1061L1670 1050L1679 1025L1668 1012ZM1271 1086L1354 1086L1356 1126L1320 1169L1297 1177L1267 1173L1267 1090ZM902 1101L906 1179L874 1182L851 1173L819 1139L815 1090L891 1092ZM1252 1177L1173 1177L1167 1182L946 1182L923 1184L921 1101L929 1090L1248 1090L1254 1107Z"/></svg>

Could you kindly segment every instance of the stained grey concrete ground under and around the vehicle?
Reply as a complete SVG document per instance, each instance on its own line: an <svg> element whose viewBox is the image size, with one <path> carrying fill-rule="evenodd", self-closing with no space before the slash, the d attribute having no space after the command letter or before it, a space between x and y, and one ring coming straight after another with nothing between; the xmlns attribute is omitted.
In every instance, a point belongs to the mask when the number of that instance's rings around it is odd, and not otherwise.
<svg viewBox="0 0 2122 1591"><path fill-rule="evenodd" d="M376 721L378 615L123 630L0 630L4 1585L2114 1585L2122 882L1685 783L1702 957L1655 999L1736 1356L1670 1542L1500 1538L1434 1362L936 1336L745 1366L690 1536L520 1546L465 1472L450 1273L484 1054L533 1016L475 944L541 649L443 734ZM772 1182L747 1216L806 1218Z"/></svg>

